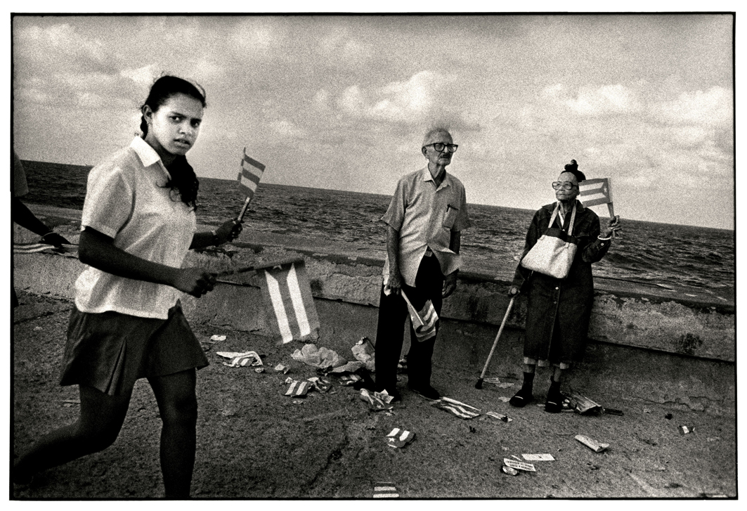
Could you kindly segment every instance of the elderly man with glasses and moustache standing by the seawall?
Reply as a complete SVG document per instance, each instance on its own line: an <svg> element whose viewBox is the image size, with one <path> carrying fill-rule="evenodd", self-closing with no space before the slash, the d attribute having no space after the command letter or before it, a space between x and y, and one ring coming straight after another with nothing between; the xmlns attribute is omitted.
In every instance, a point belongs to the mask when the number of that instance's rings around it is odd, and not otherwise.
<svg viewBox="0 0 747 511"><path fill-rule="evenodd" d="M376 389L386 390L394 400L400 399L397 362L408 317L402 292L418 311L431 300L440 315L443 299L456 288L460 233L470 226L464 185L446 173L456 147L446 129L428 131L421 147L427 166L397 182L382 217L388 228L376 330ZM441 397L430 385L434 344L435 335L419 341L410 326L408 387L429 399Z"/></svg>

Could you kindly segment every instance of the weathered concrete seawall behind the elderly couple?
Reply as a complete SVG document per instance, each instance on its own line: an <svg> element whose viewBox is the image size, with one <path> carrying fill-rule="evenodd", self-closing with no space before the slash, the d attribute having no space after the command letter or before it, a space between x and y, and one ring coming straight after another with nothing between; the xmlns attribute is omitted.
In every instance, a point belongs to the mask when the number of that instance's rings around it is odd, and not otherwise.
<svg viewBox="0 0 747 511"><path fill-rule="evenodd" d="M31 205L49 225L77 243L80 211ZM207 228L205 228L207 229ZM16 226L16 241L37 237ZM363 335L376 334L383 247L328 243L288 235L254 233L218 250L190 253L188 265L215 271L303 257L322 323L318 344L349 353ZM16 288L72 300L73 282L83 269L77 258L61 255L14 256ZM513 265L468 261L456 293L444 302L438 363L482 368L508 305L506 286ZM251 274L232 277L201 300L186 297L190 320L244 332L270 332L260 291ZM692 294L639 282L595 279L595 305L586 360L569 383L585 391L624 392L691 409L733 413L735 396L735 306L733 298ZM520 374L526 299L519 297L491 373ZM518 371L518 372L517 372ZM611 406L611 405L610 405ZM613 406L614 407L614 406Z"/></svg>

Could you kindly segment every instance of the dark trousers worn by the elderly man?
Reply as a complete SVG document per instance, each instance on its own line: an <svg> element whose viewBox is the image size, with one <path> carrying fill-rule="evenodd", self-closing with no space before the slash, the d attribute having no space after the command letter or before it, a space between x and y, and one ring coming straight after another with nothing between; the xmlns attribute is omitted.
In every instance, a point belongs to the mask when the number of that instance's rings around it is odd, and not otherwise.
<svg viewBox="0 0 747 511"><path fill-rule="evenodd" d="M441 291L444 276L438 259L433 255L424 257L415 277L415 287L403 284L402 290L415 309L420 311L427 300L433 303L436 314L441 316L443 298ZM409 318L407 304L398 294L384 294L384 287L379 297L379 323L376 326L376 388L386 389L390 394L397 388L397 363L400 361L404 341L405 320ZM436 334L441 321L436 321ZM418 341L410 325L410 350L407 353L408 385L430 385L431 358L436 336L427 341Z"/></svg>

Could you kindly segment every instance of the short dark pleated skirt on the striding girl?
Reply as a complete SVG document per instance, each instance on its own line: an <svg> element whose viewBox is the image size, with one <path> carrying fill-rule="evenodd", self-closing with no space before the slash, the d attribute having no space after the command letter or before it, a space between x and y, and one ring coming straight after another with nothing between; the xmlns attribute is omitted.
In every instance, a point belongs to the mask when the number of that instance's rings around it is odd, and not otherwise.
<svg viewBox="0 0 747 511"><path fill-rule="evenodd" d="M179 303L165 320L73 309L60 385L88 385L117 396L144 377L204 368L208 359Z"/></svg>

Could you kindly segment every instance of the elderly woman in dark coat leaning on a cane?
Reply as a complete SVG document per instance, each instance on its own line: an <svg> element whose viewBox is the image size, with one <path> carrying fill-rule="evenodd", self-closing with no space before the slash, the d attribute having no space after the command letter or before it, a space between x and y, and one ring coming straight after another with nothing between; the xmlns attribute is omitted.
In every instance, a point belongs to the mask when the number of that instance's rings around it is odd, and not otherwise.
<svg viewBox="0 0 747 511"><path fill-rule="evenodd" d="M592 263L599 261L610 249L613 232L620 229L619 217L610 218L607 229L601 232L599 217L579 202L578 185L586 176L578 170L575 160L565 165L553 183L557 202L542 206L532 219L524 245L524 255L551 226L556 207L557 216L552 227L568 232L573 223L572 235L577 238L577 251L565 279L556 279L521 266L516 273L509 295L520 291L528 296L527 327L524 339L524 384L509 403L524 406L532 400L532 385L537 365L553 366L550 390L545 402L545 412L560 412L562 371L572 362L579 362L586 345L594 300ZM573 211L575 208L575 218Z"/></svg>

